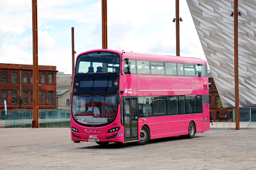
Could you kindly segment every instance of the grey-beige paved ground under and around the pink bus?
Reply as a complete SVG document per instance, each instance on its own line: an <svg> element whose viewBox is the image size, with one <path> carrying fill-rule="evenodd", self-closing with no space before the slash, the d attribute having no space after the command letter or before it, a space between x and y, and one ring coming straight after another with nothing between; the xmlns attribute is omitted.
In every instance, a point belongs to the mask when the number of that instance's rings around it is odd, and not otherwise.
<svg viewBox="0 0 256 170"><path fill-rule="evenodd" d="M0 169L256 169L256 129L137 146L73 143L69 128L0 129Z"/></svg>

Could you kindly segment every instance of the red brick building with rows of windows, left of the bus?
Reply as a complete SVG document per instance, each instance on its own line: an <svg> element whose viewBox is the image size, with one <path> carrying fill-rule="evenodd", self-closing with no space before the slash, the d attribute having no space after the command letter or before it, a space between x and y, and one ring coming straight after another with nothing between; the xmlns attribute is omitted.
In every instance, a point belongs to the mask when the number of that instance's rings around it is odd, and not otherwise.
<svg viewBox="0 0 256 170"><path fill-rule="evenodd" d="M56 109L56 66L38 66L38 107ZM33 109L33 65L0 63L0 111Z"/></svg>

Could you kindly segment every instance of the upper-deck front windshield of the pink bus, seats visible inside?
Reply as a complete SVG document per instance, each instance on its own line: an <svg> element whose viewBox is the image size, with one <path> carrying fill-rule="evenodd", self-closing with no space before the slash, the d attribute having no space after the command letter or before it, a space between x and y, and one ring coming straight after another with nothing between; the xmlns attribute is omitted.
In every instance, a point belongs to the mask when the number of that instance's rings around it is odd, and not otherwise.
<svg viewBox="0 0 256 170"><path fill-rule="evenodd" d="M111 52L93 52L81 55L77 59L76 74L119 72L119 55Z"/></svg>

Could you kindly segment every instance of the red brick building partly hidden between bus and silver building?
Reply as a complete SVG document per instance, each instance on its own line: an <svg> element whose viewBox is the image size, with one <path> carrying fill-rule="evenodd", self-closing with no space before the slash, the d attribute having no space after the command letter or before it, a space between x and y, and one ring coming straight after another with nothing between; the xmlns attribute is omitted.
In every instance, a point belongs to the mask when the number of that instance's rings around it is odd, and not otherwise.
<svg viewBox="0 0 256 170"><path fill-rule="evenodd" d="M220 98L214 80L212 78L212 73L208 70L208 80L209 80L209 104L210 104L210 115L212 115L213 120L220 120L221 116L227 114L228 120L233 118L232 108L223 108L220 109L217 101L217 98Z"/></svg>

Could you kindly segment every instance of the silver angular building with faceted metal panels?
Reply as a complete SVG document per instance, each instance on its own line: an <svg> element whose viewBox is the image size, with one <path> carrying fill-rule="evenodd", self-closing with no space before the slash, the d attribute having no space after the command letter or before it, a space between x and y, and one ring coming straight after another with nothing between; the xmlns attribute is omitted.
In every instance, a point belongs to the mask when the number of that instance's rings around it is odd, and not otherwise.
<svg viewBox="0 0 256 170"><path fill-rule="evenodd" d="M234 17L230 16L234 0L187 3L222 105L235 107ZM238 16L240 116L250 110L256 119L256 0L238 0L238 11L242 13Z"/></svg>

